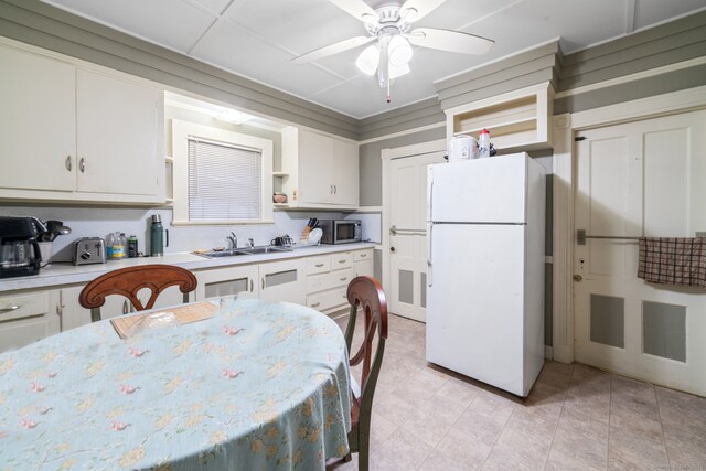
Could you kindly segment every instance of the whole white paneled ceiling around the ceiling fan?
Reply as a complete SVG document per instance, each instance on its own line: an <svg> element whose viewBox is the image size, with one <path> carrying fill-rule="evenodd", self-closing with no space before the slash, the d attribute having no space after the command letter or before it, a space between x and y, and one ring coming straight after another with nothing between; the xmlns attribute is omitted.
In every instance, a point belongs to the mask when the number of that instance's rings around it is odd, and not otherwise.
<svg viewBox="0 0 706 471"><path fill-rule="evenodd" d="M415 47L411 73L394 81L388 104L375 77L355 67L361 49L290 63L366 34L328 0L44 1L354 118L432 97L435 81L550 40L560 38L567 54L706 8L706 0L446 0L415 26L472 33L495 45L483 56Z"/></svg>

